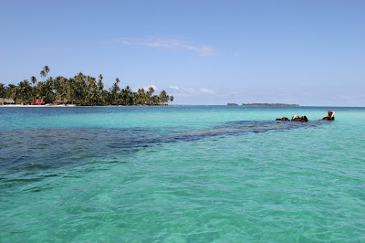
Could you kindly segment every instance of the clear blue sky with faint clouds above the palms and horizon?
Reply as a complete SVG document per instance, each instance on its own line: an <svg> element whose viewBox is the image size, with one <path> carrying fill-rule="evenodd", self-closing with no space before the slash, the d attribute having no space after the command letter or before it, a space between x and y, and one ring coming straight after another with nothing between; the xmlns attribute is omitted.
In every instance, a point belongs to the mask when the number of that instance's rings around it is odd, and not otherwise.
<svg viewBox="0 0 365 243"><path fill-rule="evenodd" d="M365 106L365 1L0 0L0 82L78 72L172 104Z"/></svg>

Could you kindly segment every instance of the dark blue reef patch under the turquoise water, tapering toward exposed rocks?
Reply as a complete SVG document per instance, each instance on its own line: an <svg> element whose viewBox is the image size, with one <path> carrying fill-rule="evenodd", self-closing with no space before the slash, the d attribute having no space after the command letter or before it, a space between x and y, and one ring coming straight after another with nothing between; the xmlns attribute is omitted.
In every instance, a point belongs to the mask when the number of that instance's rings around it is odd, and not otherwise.
<svg viewBox="0 0 365 243"><path fill-rule="evenodd" d="M105 158L118 158L118 161L125 163L129 161L130 155L156 144L220 139L250 132L310 128L323 123L327 122L235 121L193 131L141 127L2 130L0 175L3 179L11 177L10 181L6 180L9 184L14 183L16 177L26 175L38 179L38 176L55 176L54 170L59 167L102 163ZM112 163L116 163L116 160L113 159ZM1 177L0 181L3 181Z"/></svg>

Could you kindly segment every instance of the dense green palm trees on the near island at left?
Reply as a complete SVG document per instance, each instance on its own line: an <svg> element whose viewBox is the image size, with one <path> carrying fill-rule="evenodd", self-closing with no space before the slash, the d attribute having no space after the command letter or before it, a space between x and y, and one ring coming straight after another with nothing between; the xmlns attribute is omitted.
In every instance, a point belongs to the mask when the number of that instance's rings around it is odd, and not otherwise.
<svg viewBox="0 0 365 243"><path fill-rule="evenodd" d="M152 87L149 90L130 90L130 86L120 89L120 79L115 79L110 90L104 90L102 75L98 79L79 72L74 78L57 76L49 77L50 69L45 66L40 71L42 81L32 76L29 80L17 85L0 83L0 98L16 100L16 103L29 104L33 99L43 99L46 103L58 102L76 105L165 105L173 100L165 90L154 95ZM46 79L46 80L45 80Z"/></svg>

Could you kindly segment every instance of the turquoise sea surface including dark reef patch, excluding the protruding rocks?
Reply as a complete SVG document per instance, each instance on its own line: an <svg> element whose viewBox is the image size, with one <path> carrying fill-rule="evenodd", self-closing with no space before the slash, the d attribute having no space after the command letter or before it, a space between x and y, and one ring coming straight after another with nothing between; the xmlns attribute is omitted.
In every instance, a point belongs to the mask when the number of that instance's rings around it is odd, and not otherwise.
<svg viewBox="0 0 365 243"><path fill-rule="evenodd" d="M0 107L0 242L95 241L365 242L365 108Z"/></svg>

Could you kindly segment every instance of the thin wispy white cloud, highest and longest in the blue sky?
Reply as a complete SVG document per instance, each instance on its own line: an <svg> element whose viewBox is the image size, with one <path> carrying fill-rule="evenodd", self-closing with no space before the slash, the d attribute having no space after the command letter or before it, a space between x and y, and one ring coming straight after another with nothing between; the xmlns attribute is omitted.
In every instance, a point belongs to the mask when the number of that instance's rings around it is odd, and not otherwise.
<svg viewBox="0 0 365 243"><path fill-rule="evenodd" d="M199 56L216 56L218 53L210 46L194 45L175 38L148 37L148 38L127 38L118 40L123 45L140 45L149 48L160 48L165 50L187 50Z"/></svg>

